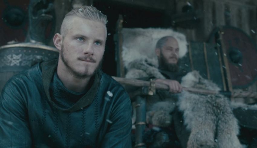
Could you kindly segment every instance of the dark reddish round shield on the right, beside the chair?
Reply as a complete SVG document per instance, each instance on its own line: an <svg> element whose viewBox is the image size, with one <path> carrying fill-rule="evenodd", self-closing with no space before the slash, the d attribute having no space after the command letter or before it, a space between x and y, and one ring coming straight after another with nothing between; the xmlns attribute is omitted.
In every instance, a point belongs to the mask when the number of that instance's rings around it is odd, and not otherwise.
<svg viewBox="0 0 257 148"><path fill-rule="evenodd" d="M210 42L215 43L218 31L223 49L223 60L228 61L233 88L246 88L257 80L257 49L253 40L235 27L222 27L213 31ZM225 76L226 77L226 76Z"/></svg>

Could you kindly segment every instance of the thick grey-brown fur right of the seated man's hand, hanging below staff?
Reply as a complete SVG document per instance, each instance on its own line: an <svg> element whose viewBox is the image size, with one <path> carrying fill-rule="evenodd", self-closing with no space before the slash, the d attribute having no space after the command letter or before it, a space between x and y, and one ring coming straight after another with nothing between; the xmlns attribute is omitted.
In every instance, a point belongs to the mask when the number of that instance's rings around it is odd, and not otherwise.
<svg viewBox="0 0 257 148"><path fill-rule="evenodd" d="M182 78L183 87L220 90L203 79L197 71ZM183 91L177 102L184 124L191 131L187 148L241 148L237 138L239 126L228 98L222 95L201 95Z"/></svg>

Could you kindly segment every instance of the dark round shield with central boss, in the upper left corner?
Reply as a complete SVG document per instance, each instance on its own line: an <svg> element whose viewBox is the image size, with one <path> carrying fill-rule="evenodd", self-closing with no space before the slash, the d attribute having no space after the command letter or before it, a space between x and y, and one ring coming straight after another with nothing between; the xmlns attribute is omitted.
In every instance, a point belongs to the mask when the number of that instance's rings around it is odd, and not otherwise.
<svg viewBox="0 0 257 148"><path fill-rule="evenodd" d="M24 42L28 30L29 0L0 1L0 46L10 41Z"/></svg>

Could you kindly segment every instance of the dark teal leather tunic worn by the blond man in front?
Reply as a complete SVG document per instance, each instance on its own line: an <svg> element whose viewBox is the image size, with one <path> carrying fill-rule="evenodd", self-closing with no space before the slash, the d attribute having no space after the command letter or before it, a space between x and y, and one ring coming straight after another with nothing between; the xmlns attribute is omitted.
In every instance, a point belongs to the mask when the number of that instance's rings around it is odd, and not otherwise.
<svg viewBox="0 0 257 148"><path fill-rule="evenodd" d="M56 60L43 62L6 83L0 147L131 147L132 107L124 88L99 70L86 94L62 108L50 95L56 67Z"/></svg>

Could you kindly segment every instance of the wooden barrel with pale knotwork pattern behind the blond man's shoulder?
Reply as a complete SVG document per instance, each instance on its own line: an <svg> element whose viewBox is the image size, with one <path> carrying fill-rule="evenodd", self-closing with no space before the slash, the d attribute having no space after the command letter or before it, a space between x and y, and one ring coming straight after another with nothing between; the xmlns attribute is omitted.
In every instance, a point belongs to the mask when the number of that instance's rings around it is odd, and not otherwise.
<svg viewBox="0 0 257 148"><path fill-rule="evenodd" d="M57 58L59 51L36 43L16 43L0 46L0 92L15 74L41 61Z"/></svg>

